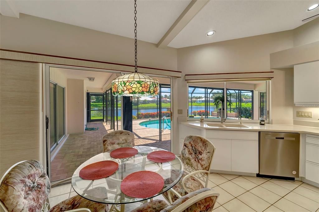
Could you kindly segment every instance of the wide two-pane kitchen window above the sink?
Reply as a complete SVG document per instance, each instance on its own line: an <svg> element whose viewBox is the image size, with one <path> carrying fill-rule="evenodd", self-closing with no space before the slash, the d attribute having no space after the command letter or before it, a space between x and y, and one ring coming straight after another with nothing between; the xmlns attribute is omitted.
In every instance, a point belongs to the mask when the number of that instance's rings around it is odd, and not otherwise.
<svg viewBox="0 0 319 212"><path fill-rule="evenodd" d="M267 81L226 82L227 121L258 122L260 117L268 119ZM188 84L188 117L196 120L203 116L206 120L220 121L225 114L224 82L204 82ZM254 121L256 120L256 121Z"/></svg>

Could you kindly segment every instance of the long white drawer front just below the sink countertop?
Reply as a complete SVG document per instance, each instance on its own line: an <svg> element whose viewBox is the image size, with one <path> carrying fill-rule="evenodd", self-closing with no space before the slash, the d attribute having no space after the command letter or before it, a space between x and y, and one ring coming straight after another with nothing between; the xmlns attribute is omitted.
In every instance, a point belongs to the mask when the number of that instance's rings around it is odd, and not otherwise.
<svg viewBox="0 0 319 212"><path fill-rule="evenodd" d="M230 131L230 130L206 130L206 138L256 140L256 141L258 141L258 132Z"/></svg>

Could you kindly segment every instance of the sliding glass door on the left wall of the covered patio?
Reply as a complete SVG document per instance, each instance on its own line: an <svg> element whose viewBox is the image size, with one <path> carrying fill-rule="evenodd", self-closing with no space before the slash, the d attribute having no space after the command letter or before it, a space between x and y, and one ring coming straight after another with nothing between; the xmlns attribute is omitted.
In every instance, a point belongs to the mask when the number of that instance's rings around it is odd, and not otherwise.
<svg viewBox="0 0 319 212"><path fill-rule="evenodd" d="M52 151L65 135L64 88L50 82L50 150Z"/></svg>

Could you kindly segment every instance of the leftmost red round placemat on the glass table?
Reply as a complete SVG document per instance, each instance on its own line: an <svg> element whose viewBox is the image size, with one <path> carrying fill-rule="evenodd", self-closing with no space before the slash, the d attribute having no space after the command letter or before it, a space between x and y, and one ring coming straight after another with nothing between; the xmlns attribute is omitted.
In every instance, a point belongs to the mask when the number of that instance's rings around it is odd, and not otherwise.
<svg viewBox="0 0 319 212"><path fill-rule="evenodd" d="M103 160L84 166L79 173L84 180L98 180L106 178L115 173L119 164L112 160Z"/></svg>

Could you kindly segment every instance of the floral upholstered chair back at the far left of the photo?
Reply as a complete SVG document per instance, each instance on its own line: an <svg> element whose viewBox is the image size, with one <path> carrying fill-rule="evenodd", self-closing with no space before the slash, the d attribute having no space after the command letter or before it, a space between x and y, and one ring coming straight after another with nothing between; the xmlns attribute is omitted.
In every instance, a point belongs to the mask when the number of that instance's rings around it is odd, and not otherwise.
<svg viewBox="0 0 319 212"><path fill-rule="evenodd" d="M50 190L50 180L39 161L21 161L0 181L0 205L4 211L41 211Z"/></svg>

